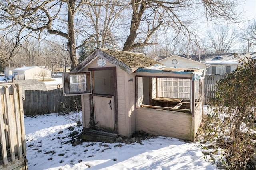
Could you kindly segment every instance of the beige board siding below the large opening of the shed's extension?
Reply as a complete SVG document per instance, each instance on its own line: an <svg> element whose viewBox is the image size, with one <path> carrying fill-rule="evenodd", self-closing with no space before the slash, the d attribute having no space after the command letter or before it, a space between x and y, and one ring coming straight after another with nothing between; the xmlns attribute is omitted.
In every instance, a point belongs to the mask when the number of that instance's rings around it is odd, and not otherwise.
<svg viewBox="0 0 256 170"><path fill-rule="evenodd" d="M152 135L191 140L191 114L138 107L137 127Z"/></svg>

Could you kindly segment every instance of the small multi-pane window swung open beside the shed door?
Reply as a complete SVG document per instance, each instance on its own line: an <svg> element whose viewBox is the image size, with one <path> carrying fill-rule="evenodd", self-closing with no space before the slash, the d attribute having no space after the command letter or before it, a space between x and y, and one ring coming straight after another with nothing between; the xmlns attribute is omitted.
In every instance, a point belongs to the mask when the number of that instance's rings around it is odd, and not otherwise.
<svg viewBox="0 0 256 170"><path fill-rule="evenodd" d="M91 72L64 72L63 94L92 94Z"/></svg>

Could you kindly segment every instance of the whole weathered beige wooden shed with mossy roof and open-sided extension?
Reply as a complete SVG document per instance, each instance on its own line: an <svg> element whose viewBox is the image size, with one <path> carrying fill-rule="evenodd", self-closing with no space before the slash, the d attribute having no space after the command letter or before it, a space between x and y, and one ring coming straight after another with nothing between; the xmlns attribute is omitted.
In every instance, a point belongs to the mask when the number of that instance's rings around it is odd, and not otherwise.
<svg viewBox="0 0 256 170"><path fill-rule="evenodd" d="M203 78L203 70L165 68L144 54L97 48L63 74L63 91L82 95L85 130L194 140L202 119Z"/></svg>

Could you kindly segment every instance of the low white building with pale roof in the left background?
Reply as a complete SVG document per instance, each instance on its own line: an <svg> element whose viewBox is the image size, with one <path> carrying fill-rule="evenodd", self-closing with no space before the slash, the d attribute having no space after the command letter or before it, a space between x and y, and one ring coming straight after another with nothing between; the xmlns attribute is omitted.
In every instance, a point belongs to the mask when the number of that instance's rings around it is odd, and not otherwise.
<svg viewBox="0 0 256 170"><path fill-rule="evenodd" d="M51 70L40 66L20 67L12 70L16 80L50 79Z"/></svg>

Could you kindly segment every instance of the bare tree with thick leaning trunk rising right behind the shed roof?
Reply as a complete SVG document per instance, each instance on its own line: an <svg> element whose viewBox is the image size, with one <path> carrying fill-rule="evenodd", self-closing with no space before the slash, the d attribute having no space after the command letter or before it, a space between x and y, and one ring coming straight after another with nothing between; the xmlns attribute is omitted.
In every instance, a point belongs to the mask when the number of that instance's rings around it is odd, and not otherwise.
<svg viewBox="0 0 256 170"><path fill-rule="evenodd" d="M163 29L183 36L184 40L196 41L194 28L204 16L208 21L237 22L240 13L236 7L242 3L237 0L132 0L130 33L123 50L157 44L152 35Z"/></svg>

